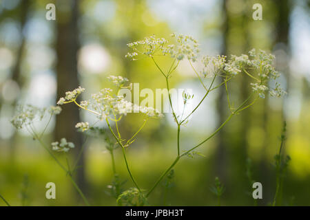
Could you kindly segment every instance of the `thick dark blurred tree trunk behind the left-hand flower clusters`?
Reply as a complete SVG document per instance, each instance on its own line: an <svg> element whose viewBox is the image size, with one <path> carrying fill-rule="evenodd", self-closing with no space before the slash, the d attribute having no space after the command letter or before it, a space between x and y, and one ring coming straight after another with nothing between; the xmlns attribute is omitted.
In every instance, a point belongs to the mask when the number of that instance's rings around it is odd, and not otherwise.
<svg viewBox="0 0 310 220"><path fill-rule="evenodd" d="M65 91L72 91L79 87L77 71L77 52L79 50L79 0L57 1L57 100L65 95ZM56 117L55 139L65 137L74 142L74 153L77 156L82 146L82 135L76 132L74 126L80 121L79 108L74 104L65 104L63 111ZM79 161L76 177L82 190L86 190L84 154Z"/></svg>

